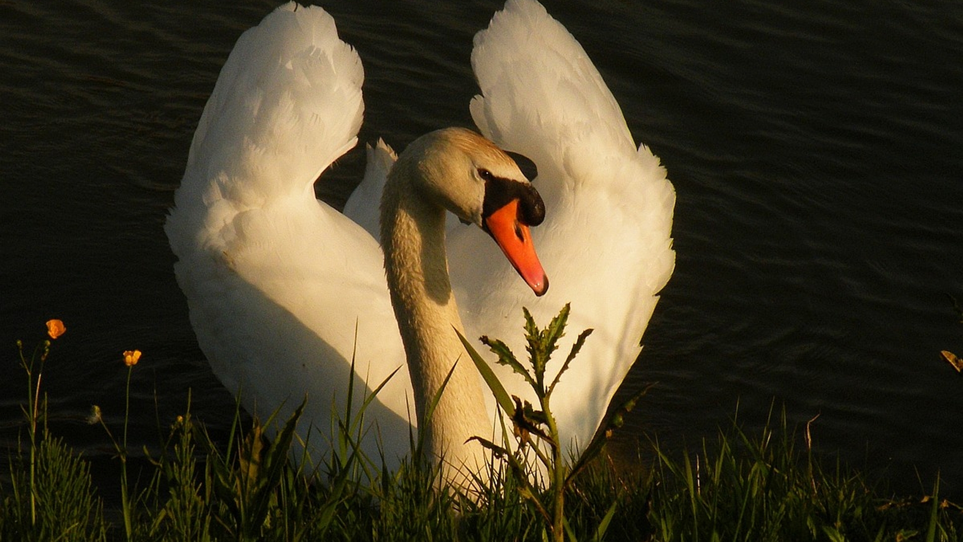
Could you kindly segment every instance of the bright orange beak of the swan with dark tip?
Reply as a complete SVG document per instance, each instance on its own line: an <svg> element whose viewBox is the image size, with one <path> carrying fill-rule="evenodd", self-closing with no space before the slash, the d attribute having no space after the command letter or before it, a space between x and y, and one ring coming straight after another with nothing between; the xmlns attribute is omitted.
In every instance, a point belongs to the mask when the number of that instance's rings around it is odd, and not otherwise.
<svg viewBox="0 0 963 542"><path fill-rule="evenodd" d="M541 296L548 291L548 277L535 254L532 233L518 220L518 200L511 200L496 209L483 219L482 224L535 295Z"/></svg>

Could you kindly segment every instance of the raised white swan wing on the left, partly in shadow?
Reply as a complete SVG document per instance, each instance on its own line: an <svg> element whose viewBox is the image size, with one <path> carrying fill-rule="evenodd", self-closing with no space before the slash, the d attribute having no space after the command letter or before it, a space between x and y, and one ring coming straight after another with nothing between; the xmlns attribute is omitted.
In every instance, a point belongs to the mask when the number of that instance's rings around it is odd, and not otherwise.
<svg viewBox="0 0 963 542"><path fill-rule="evenodd" d="M355 383L377 386L404 360L377 241L313 190L357 142L363 77L324 10L269 14L221 69L165 225L214 372L265 420L306 397L299 427L317 427L309 443L323 452L332 416L345 417L351 361ZM368 411L389 461L407 450L409 390L400 370Z"/></svg>

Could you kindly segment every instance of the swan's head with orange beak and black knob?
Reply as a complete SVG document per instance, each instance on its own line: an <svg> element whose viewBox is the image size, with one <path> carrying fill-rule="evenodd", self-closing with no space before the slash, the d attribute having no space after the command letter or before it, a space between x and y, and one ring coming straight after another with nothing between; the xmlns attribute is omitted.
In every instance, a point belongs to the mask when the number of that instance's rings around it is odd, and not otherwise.
<svg viewBox="0 0 963 542"><path fill-rule="evenodd" d="M452 211L462 223L491 235L540 296L548 290L548 278L535 254L529 227L541 224L545 203L522 173L525 167L534 177L534 163L514 156L472 130L444 128L411 143L395 167L415 168L417 175L412 178L418 179L422 194Z"/></svg>

